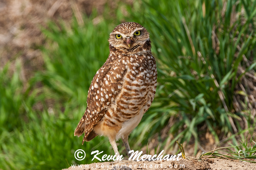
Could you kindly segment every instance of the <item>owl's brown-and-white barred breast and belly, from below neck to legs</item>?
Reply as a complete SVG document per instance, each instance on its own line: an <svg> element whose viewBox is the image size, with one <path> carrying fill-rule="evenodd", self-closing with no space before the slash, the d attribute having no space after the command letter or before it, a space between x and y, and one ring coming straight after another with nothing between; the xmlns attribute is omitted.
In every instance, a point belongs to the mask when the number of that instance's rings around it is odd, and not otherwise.
<svg viewBox="0 0 256 170"><path fill-rule="evenodd" d="M130 133L151 106L156 93L157 76L152 54L126 58L119 67L125 67L122 86L102 119L109 128L121 128L117 130L117 138Z"/></svg>

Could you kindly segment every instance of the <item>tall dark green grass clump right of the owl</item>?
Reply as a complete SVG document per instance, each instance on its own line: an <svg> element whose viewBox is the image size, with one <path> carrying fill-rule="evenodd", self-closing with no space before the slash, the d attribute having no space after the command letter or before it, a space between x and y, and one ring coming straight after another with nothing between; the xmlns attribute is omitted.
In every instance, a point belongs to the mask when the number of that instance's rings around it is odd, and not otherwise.
<svg viewBox="0 0 256 170"><path fill-rule="evenodd" d="M255 84L242 79L255 78L256 3L149 0L140 5L129 12L150 32L159 85L134 134L152 136L168 127L169 137L159 138L162 147L193 139L196 154L205 130L219 143L255 127ZM140 141L147 143L148 138Z"/></svg>

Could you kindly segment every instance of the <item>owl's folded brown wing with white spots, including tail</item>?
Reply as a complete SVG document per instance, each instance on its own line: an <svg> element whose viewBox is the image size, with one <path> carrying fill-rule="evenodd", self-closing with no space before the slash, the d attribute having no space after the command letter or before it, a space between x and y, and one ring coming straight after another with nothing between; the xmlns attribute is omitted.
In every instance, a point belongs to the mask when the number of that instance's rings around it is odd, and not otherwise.
<svg viewBox="0 0 256 170"><path fill-rule="evenodd" d="M125 59L110 54L106 63L95 74L88 91L87 108L74 133L79 137L84 132L83 143L97 136L94 133L88 137L105 114L107 107L115 101L122 88L125 73Z"/></svg>

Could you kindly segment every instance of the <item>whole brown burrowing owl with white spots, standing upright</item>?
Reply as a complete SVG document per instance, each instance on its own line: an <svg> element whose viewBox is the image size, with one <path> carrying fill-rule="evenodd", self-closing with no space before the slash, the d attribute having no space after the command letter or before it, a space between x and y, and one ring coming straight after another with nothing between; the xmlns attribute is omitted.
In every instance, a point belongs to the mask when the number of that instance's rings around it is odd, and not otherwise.
<svg viewBox="0 0 256 170"><path fill-rule="evenodd" d="M84 141L97 135L109 138L116 155L122 138L129 155L128 136L139 124L156 93L156 61L149 33L138 23L122 23L110 33L109 56L90 85L87 108L75 136Z"/></svg>

